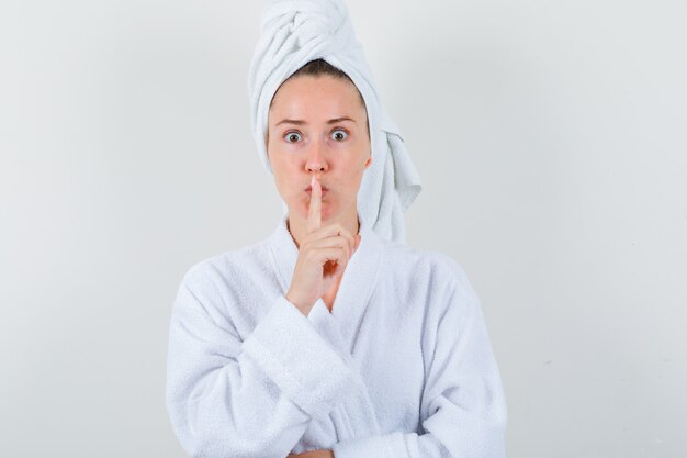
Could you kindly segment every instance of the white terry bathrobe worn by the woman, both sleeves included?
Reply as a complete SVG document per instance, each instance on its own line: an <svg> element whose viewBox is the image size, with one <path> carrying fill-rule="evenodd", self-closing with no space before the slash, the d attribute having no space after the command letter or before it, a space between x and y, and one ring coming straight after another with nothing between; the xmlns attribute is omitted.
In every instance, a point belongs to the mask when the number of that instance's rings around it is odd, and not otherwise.
<svg viewBox="0 0 687 458"><path fill-rule="evenodd" d="M167 409L192 457L503 458L506 401L484 317L449 256L361 222L329 312L285 299L288 213L264 241L185 273Z"/></svg>

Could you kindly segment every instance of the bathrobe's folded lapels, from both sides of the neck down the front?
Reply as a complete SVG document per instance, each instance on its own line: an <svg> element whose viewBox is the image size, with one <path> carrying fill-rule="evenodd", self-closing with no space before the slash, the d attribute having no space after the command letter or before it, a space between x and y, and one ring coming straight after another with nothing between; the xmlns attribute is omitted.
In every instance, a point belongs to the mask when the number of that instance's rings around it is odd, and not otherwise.
<svg viewBox="0 0 687 458"><path fill-rule="evenodd" d="M288 213L284 212L277 228L269 237L273 267L284 294L291 286L299 256L299 249L286 227L288 217ZM374 231L362 222L360 235L360 245L344 271L331 313L320 298L315 302L307 316L323 338L339 353L361 381L357 395L344 404L348 425L341 429L348 431L345 436L350 437L380 434L375 410L368 387L363 382L363 378L360 377L360 366L353 355L356 354L358 332L361 321L364 319L365 309L374 306L369 302L382 267L383 244ZM345 438L349 437L339 437L339 439Z"/></svg>

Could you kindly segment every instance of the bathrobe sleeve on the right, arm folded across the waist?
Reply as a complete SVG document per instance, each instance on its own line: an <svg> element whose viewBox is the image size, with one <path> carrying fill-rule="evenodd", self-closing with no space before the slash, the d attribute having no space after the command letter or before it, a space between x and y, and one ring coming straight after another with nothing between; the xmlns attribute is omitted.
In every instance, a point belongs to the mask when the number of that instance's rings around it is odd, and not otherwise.
<svg viewBox="0 0 687 458"><path fill-rule="evenodd" d="M505 457L507 414L499 371L477 297L462 270L455 272L444 305L424 331L424 434L392 432L339 442L333 447L335 458Z"/></svg>

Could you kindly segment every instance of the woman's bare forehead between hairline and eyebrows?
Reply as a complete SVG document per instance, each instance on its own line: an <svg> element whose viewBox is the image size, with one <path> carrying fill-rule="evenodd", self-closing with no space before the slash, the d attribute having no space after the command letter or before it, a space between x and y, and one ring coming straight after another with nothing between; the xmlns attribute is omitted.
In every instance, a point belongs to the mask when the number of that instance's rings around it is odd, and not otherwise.
<svg viewBox="0 0 687 458"><path fill-rule="evenodd" d="M364 115L356 86L328 75L286 80L272 99L270 113L311 116Z"/></svg>

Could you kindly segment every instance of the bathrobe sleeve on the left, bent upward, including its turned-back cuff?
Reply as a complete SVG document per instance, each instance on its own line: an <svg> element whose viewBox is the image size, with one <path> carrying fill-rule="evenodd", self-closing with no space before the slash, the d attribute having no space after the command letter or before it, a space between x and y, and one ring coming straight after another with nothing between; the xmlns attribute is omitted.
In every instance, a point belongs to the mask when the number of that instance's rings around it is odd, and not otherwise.
<svg viewBox="0 0 687 458"><path fill-rule="evenodd" d="M177 437L192 457L285 458L311 418L347 395L351 370L284 297L241 342L227 310L255 304L209 293L189 277L174 301L167 360Z"/></svg>

